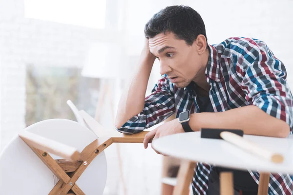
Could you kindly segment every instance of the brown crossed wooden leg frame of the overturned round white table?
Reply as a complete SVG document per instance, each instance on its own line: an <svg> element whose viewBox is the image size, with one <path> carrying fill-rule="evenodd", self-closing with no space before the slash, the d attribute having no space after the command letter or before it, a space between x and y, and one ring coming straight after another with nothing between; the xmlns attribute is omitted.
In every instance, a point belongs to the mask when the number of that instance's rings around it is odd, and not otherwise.
<svg viewBox="0 0 293 195"><path fill-rule="evenodd" d="M30 132L19 134L19 137L59 178L49 195L84 195L76 181L96 156L112 143L143 143L147 133L144 131L137 134L122 134L117 131L105 131L94 118L84 111L80 113L85 123L97 135L97 139L89 143L81 153L75 148ZM49 153L64 158L55 160Z"/></svg>

